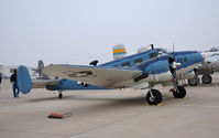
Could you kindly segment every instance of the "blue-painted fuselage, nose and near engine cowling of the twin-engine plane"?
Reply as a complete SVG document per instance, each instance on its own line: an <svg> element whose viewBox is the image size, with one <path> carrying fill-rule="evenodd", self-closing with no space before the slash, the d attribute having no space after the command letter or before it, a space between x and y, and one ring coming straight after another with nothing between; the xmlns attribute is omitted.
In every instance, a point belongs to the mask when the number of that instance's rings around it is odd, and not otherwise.
<svg viewBox="0 0 219 138"><path fill-rule="evenodd" d="M143 53L98 65L97 67L141 70L145 74L157 75L169 71L169 56L175 56L175 61L182 64L177 67L177 71L202 61L201 54L196 51L183 51L175 52L174 54L169 53L166 55L158 55L162 51L163 49L149 50ZM77 82L70 79L62 79L59 84L47 86L46 88L50 91L105 89L99 86L78 84Z"/></svg>

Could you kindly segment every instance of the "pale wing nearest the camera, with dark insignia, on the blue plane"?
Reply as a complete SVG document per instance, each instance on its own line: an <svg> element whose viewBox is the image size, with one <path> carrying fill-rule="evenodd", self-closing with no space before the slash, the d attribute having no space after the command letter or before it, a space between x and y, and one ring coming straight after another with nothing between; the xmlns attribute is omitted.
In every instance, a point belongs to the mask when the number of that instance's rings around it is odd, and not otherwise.
<svg viewBox="0 0 219 138"><path fill-rule="evenodd" d="M58 76L110 88L114 87L113 84L116 83L133 79L133 77L141 74L142 71L136 68L57 64L44 67L43 73L47 74L48 76Z"/></svg>

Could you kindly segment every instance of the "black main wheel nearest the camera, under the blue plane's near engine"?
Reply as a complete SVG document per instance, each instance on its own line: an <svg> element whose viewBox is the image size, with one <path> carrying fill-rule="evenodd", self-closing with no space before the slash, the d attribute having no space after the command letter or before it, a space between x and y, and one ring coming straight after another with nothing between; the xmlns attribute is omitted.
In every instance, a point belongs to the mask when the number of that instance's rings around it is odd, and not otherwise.
<svg viewBox="0 0 219 138"><path fill-rule="evenodd" d="M151 93L149 92L146 94L146 102L149 103L149 105L157 105L162 102L162 94L161 92L158 92L157 89L152 89L152 95L151 96Z"/></svg>

